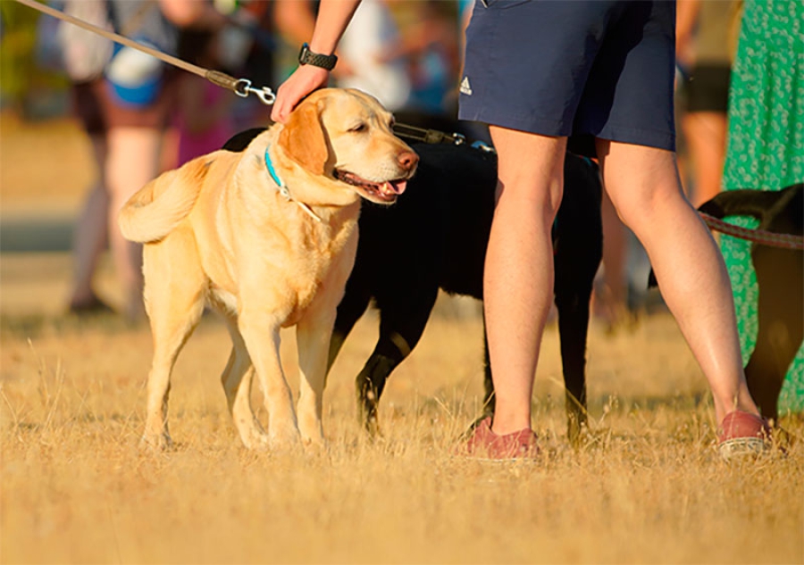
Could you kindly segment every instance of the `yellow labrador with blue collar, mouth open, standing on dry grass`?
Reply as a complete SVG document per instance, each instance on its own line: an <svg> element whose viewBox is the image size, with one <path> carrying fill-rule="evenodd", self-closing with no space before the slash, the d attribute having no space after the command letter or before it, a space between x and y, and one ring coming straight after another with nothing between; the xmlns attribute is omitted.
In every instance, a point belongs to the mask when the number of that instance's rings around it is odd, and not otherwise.
<svg viewBox="0 0 804 565"><path fill-rule="evenodd" d="M418 157L393 118L358 90L323 89L240 153L217 151L165 172L122 208L123 235L145 244L154 338L144 441L166 447L173 363L205 303L233 342L222 374L248 448L321 443L332 325L355 260L360 197L390 204ZM297 413L280 362L280 328L296 325ZM267 434L250 403L256 371Z"/></svg>

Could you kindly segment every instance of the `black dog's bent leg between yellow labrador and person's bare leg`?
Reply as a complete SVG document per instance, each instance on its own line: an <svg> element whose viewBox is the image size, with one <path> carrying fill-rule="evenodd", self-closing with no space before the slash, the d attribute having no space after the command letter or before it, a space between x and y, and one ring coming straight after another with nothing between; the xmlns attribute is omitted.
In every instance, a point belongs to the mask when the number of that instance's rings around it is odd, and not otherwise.
<svg viewBox="0 0 804 565"><path fill-rule="evenodd" d="M371 435L376 435L380 431L377 405L380 403L385 383L391 371L396 369L419 343L437 293L423 295L413 289L410 291L410 296L417 298L416 303L408 301L398 303L398 297L388 304L383 304L380 298L377 300L377 307L380 310L380 338L371 357L365 362L363 370L357 375L355 383L359 418Z"/></svg>

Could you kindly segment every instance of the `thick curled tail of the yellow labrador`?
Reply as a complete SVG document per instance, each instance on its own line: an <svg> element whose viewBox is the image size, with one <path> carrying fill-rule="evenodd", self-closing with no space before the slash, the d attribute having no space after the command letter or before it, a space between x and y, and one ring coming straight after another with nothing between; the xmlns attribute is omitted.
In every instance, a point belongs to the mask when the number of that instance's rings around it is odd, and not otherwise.
<svg viewBox="0 0 804 565"><path fill-rule="evenodd" d="M151 243L167 236L196 204L208 164L208 158L195 159L140 188L117 217L123 237Z"/></svg>

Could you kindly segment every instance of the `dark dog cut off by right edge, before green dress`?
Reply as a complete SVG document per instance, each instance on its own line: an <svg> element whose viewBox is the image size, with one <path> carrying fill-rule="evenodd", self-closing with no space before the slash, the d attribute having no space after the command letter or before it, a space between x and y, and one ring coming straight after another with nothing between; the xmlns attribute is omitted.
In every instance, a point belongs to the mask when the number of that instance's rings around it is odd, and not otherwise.
<svg viewBox="0 0 804 565"><path fill-rule="evenodd" d="M699 207L723 219L750 216L758 229L804 236L804 184L780 191L729 190ZM784 376L804 339L804 252L751 245L757 273L757 345L745 367L751 395L766 418L778 418Z"/></svg>

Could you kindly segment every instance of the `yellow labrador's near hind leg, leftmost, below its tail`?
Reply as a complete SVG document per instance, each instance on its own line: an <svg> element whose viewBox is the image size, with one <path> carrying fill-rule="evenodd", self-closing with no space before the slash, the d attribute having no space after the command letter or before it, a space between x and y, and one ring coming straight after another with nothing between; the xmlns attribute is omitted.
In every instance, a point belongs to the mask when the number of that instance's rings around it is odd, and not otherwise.
<svg viewBox="0 0 804 565"><path fill-rule="evenodd" d="M171 445L167 418L173 365L204 311L204 274L197 258L171 253L184 246L166 243L147 245L143 262L154 360L148 375L146 428L142 439L145 444L161 449ZM164 268L168 264L172 268Z"/></svg>

